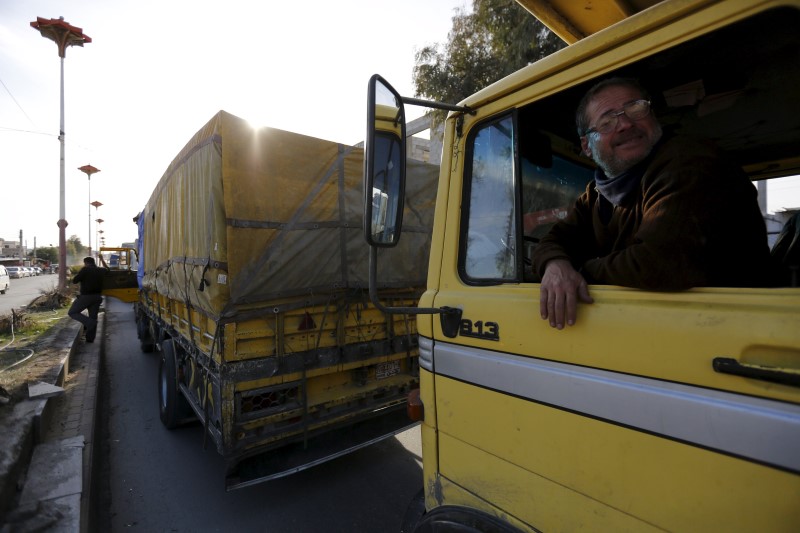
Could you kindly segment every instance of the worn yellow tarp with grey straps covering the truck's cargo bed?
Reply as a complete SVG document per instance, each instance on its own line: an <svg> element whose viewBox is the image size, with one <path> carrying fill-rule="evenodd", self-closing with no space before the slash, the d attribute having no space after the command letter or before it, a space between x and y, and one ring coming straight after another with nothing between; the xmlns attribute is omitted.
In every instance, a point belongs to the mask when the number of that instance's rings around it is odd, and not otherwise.
<svg viewBox="0 0 800 533"><path fill-rule="evenodd" d="M173 160L141 214L142 288L217 319L368 287L363 155L220 111ZM409 160L403 235L379 253L381 287L425 286L437 179L437 166Z"/></svg>

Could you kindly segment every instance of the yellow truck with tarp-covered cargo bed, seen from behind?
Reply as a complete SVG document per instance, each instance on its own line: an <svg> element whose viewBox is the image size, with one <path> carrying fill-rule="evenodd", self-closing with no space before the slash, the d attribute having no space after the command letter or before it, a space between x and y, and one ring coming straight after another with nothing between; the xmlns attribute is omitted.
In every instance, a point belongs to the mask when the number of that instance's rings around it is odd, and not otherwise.
<svg viewBox="0 0 800 533"><path fill-rule="evenodd" d="M408 163L411 231L387 250L376 297L424 290L438 167ZM136 217L137 329L158 350L160 417L199 420L252 485L413 427L416 322L370 303L363 149L220 111Z"/></svg>

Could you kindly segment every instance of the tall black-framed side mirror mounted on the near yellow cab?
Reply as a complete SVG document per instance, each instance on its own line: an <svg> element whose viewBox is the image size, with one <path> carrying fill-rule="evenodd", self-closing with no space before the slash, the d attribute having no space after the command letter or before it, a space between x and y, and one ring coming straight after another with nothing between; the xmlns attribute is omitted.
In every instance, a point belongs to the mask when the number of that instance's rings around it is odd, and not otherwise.
<svg viewBox="0 0 800 533"><path fill-rule="evenodd" d="M378 74L369 80L364 147L364 238L370 246L400 240L406 174L406 121L400 94Z"/></svg>

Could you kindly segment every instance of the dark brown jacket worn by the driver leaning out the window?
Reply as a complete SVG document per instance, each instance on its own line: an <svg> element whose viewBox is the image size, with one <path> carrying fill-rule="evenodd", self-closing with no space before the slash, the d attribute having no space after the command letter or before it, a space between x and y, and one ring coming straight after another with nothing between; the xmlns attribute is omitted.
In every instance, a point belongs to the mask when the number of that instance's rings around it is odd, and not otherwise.
<svg viewBox="0 0 800 533"><path fill-rule="evenodd" d="M627 205L613 206L590 182L536 247L534 272L541 276L557 258L569 259L590 283L649 290L770 285L756 188L712 145L680 137L655 148Z"/></svg>

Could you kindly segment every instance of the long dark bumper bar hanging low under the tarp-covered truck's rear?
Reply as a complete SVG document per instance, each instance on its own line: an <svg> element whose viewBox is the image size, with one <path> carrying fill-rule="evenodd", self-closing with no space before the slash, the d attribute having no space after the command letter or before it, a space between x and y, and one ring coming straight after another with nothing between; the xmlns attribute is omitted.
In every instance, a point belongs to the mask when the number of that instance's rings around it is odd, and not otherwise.
<svg viewBox="0 0 800 533"><path fill-rule="evenodd" d="M233 462L225 476L225 490L295 474L402 433L417 424L419 422L408 418L405 404L394 406L380 416L311 437L305 446L303 442L296 442Z"/></svg>

